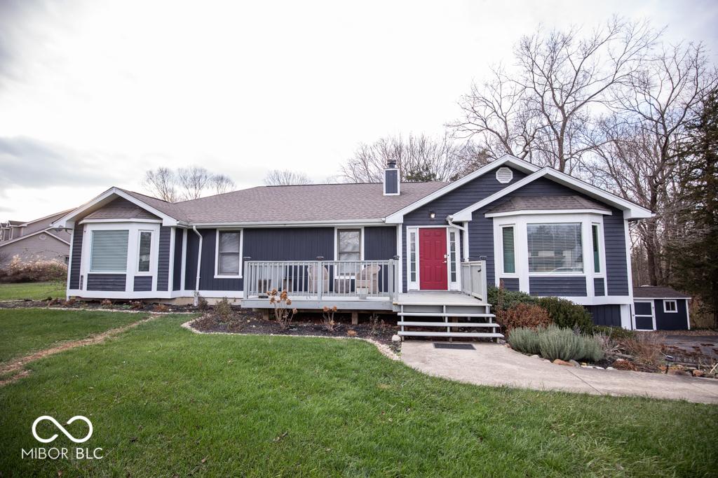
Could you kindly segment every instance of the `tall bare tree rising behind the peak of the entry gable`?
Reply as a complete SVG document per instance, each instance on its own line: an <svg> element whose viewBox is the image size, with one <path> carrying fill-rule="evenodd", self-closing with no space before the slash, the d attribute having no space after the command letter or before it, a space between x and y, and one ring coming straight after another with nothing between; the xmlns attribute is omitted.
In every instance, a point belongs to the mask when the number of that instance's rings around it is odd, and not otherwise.
<svg viewBox="0 0 718 478"><path fill-rule="evenodd" d="M510 153L571 173L595 148L595 111L611 106L612 89L627 82L660 33L646 22L618 18L589 34L571 27L521 39L515 70L495 69L460 105L450 126L477 136L493 157Z"/></svg>

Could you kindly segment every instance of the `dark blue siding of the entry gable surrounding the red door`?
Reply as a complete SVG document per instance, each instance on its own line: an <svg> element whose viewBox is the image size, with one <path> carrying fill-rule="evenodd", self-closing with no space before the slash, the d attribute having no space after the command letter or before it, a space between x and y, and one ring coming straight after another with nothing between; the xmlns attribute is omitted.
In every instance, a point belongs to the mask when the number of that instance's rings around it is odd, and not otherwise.
<svg viewBox="0 0 718 478"><path fill-rule="evenodd" d="M446 218L449 214L455 214L465 207L471 206L526 177L525 173L512 168L513 179L510 183L502 184L496 181L496 168L406 214L404 216L404 225L402 226L401 257L406 258L406 226L445 226L447 224ZM436 214L434 219L429 218L430 211ZM488 231L485 229L486 224L489 225ZM493 284L494 280L492 227L490 220L488 222L478 220L476 214L474 214L474 220L469 223L469 259L478 260L480 256L488 258L486 268L487 274L490 274L488 279L490 284ZM486 243L487 235L490 237L488 244ZM405 259L404 263L406 264ZM404 267L404 290L406 290L406 267Z"/></svg>

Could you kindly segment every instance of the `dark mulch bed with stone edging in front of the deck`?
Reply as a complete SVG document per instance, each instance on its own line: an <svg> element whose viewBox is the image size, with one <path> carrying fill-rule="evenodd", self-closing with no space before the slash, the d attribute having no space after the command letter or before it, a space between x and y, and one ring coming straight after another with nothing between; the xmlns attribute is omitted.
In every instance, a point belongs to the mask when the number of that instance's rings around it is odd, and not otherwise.
<svg viewBox="0 0 718 478"><path fill-rule="evenodd" d="M322 325L322 316L311 313L299 313L286 330L281 330L274 320L264 320L259 312L233 312L227 319L218 315L208 314L192 322L191 327L200 332L223 332L256 335L317 335L320 337L348 337L368 338L387 345L395 353L401 348L401 343L392 342L391 336L396 334L395 316L380 316L380 322L372 327L365 317L360 315L358 325L352 325L350 316L340 317L337 314L335 330L330 332ZM383 320L383 322L381 322Z"/></svg>

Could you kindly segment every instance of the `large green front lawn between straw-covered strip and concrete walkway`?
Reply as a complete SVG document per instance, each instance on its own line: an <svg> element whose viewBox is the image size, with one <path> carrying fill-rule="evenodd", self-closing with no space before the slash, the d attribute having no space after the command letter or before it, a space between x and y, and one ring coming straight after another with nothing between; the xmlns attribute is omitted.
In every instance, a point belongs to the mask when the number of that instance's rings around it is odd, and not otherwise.
<svg viewBox="0 0 718 478"><path fill-rule="evenodd" d="M165 316L45 358L0 388L2 476L718 470L717 406L472 386L424 376L360 341L197 335L179 327L185 320ZM23 447L40 446L30 426L44 414L88 416L94 434L80 446L102 447L105 457L21 459ZM60 434L45 446L75 445Z"/></svg>

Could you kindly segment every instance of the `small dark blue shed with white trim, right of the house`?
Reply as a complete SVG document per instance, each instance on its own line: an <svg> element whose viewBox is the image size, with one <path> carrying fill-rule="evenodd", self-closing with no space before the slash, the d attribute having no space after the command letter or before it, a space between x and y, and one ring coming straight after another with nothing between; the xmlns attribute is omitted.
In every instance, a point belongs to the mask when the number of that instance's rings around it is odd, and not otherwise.
<svg viewBox="0 0 718 478"><path fill-rule="evenodd" d="M635 330L690 330L688 301L691 296L671 289L642 285L633 287Z"/></svg>

